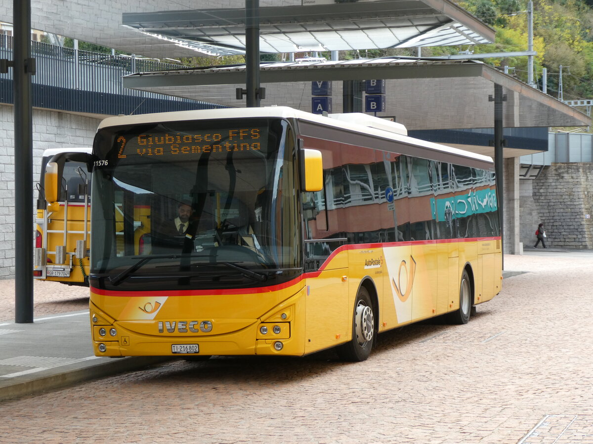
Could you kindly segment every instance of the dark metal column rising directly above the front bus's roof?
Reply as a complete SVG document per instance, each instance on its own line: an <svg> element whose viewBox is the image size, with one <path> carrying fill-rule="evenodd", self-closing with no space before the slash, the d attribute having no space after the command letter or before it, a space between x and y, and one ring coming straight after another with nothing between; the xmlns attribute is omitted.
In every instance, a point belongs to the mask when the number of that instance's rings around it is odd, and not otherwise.
<svg viewBox="0 0 593 444"><path fill-rule="evenodd" d="M245 1L247 107L259 107L259 0Z"/></svg>

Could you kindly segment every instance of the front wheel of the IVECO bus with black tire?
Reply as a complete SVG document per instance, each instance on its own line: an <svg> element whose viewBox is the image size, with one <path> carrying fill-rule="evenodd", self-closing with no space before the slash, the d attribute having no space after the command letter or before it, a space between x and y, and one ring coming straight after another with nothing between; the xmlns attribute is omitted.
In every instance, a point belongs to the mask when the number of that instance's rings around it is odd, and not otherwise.
<svg viewBox="0 0 593 444"><path fill-rule="evenodd" d="M343 361L361 362L371 354L375 340L375 316L371 297L365 287L356 295L352 315L352 339L337 349Z"/></svg>

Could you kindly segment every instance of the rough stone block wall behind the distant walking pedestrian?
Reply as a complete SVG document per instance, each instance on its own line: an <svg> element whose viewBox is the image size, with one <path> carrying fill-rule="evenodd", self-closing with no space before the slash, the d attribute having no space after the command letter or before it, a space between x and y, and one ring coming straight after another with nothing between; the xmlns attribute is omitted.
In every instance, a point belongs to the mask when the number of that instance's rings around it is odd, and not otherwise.
<svg viewBox="0 0 593 444"><path fill-rule="evenodd" d="M553 163L521 180L521 241L535 243L543 223L551 247L593 248L593 164ZM589 215L589 217L587 217Z"/></svg>

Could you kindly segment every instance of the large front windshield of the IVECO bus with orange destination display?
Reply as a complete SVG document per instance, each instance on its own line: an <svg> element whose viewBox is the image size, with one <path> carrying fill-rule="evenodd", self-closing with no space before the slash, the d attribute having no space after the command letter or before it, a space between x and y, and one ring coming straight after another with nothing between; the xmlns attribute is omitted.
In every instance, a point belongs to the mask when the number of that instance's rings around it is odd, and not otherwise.
<svg viewBox="0 0 593 444"><path fill-rule="evenodd" d="M301 272L291 134L278 118L98 131L91 282L256 287Z"/></svg>

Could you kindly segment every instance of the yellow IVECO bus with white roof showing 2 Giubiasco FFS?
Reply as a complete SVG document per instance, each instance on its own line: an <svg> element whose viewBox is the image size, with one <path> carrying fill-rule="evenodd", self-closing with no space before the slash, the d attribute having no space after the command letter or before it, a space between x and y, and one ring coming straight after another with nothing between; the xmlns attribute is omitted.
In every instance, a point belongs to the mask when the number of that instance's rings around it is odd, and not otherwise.
<svg viewBox="0 0 593 444"><path fill-rule="evenodd" d="M378 333L467 323L500 291L492 159L400 124L285 107L116 117L87 163L98 356L363 361Z"/></svg>

